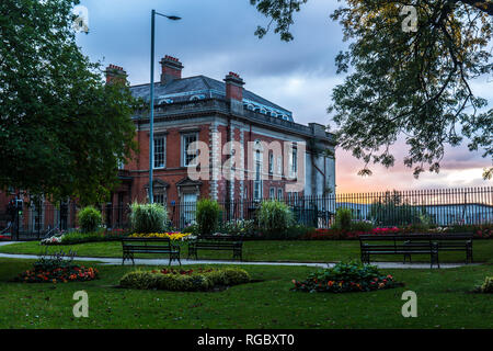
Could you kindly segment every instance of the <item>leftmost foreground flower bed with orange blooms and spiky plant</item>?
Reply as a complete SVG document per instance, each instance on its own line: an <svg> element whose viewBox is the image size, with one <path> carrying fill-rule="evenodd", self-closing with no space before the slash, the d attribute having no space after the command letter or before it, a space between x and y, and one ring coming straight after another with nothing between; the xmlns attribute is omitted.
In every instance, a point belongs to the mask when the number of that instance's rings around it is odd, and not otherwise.
<svg viewBox="0 0 493 351"><path fill-rule="evenodd" d="M18 275L15 281L24 283L68 283L85 282L98 278L99 271L85 268L65 259L64 254L54 254L49 258L41 258L27 270Z"/></svg>

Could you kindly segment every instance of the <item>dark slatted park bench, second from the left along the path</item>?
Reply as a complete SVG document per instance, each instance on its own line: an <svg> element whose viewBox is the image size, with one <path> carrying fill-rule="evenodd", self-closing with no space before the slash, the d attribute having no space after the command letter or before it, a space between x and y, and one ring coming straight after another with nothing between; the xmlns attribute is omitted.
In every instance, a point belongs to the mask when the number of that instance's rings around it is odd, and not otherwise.
<svg viewBox="0 0 493 351"><path fill-rule="evenodd" d="M188 241L188 258L197 259L198 250L232 251L233 260L242 260L243 241L237 236L200 236Z"/></svg>

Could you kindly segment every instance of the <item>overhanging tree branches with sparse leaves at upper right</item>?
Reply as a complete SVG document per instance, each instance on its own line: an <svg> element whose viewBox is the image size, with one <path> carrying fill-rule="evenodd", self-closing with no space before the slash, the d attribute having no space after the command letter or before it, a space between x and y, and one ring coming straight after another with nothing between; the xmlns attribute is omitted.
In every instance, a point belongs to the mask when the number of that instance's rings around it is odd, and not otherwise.
<svg viewBox="0 0 493 351"><path fill-rule="evenodd" d="M307 0L251 0L271 18L284 41L293 39L294 13ZM416 25L414 26L414 13ZM347 52L335 64L337 73L352 71L333 90L339 145L368 163L394 165L390 151L400 135L409 155L404 165L417 178L425 167L439 171L446 145L468 137L470 150L493 159L493 110L477 97L471 80L492 72L493 1L346 0L331 18L343 26ZM483 177L491 177L486 169Z"/></svg>

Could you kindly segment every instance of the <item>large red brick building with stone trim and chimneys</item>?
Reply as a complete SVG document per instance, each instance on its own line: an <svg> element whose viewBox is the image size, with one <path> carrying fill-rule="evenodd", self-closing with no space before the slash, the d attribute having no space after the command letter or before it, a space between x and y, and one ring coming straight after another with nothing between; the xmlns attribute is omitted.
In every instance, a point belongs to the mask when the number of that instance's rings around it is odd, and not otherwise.
<svg viewBox="0 0 493 351"><path fill-rule="evenodd" d="M237 73L229 72L222 81L183 77L179 59L165 56L160 64L161 79L154 84L154 202L171 213L176 204L193 204L199 197L241 203L334 192L335 160L330 154L335 141L323 125L295 123L288 110L244 89ZM126 79L126 72L110 65L106 82L114 79ZM130 90L149 102L150 84ZM129 203L148 201L149 114L136 111L133 121L139 152L119 167L122 183L102 207L110 227L126 222ZM0 194L0 205L11 197ZM50 210L45 205L24 212L23 227L43 230L74 224L73 203ZM194 216L192 207L190 213L180 211L181 222Z"/></svg>

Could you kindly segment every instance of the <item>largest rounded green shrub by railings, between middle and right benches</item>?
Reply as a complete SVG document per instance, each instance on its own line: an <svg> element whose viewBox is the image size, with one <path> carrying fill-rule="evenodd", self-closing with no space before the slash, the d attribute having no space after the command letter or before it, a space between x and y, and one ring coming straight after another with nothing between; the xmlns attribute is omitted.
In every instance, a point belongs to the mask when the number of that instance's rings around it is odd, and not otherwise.
<svg viewBox="0 0 493 351"><path fill-rule="evenodd" d="M264 201L257 211L259 228L271 238L286 237L286 230L294 224L293 211L278 201Z"/></svg>

